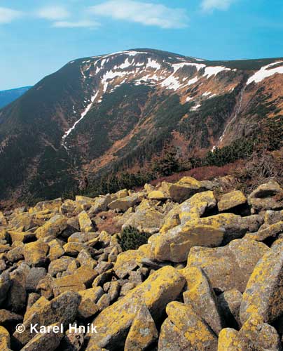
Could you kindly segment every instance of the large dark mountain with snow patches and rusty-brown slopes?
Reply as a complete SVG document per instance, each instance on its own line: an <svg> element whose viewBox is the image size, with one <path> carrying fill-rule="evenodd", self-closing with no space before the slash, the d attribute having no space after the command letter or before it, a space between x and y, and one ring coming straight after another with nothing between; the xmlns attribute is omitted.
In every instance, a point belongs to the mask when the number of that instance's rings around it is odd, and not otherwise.
<svg viewBox="0 0 283 351"><path fill-rule="evenodd" d="M282 86L283 58L135 49L73 60L0 110L0 198L52 198L83 177L137 173L168 145L186 158L280 142Z"/></svg>

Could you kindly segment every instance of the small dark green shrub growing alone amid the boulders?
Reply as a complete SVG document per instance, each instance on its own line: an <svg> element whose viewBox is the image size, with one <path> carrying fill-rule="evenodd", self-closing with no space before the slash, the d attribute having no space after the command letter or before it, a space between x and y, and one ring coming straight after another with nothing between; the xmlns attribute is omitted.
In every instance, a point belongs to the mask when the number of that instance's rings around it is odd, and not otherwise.
<svg viewBox="0 0 283 351"><path fill-rule="evenodd" d="M123 251L137 250L139 246L147 244L147 240L151 237L151 234L140 232L135 227L126 227L119 239L119 244Z"/></svg>

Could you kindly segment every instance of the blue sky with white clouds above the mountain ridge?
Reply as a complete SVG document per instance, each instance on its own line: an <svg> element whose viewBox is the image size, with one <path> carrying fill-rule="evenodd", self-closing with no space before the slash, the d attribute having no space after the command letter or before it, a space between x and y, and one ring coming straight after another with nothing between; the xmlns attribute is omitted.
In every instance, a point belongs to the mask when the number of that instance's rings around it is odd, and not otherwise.
<svg viewBox="0 0 283 351"><path fill-rule="evenodd" d="M211 60L283 56L283 0L0 0L0 90L69 60L158 48Z"/></svg>

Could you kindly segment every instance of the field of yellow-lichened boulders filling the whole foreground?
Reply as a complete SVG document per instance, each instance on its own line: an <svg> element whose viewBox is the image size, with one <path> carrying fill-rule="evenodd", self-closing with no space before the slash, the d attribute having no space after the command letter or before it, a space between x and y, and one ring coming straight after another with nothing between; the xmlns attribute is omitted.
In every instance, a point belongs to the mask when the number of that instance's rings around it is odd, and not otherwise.
<svg viewBox="0 0 283 351"><path fill-rule="evenodd" d="M282 350L282 185L229 183L0 212L1 351Z"/></svg>

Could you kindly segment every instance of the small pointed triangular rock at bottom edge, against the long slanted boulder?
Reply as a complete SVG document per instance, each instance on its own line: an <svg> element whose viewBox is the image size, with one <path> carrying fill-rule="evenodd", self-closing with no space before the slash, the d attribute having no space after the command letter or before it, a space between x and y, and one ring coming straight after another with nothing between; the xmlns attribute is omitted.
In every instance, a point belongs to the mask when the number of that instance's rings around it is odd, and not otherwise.
<svg viewBox="0 0 283 351"><path fill-rule="evenodd" d="M125 351L143 351L158 338L156 324L145 305L141 305L125 341Z"/></svg>

